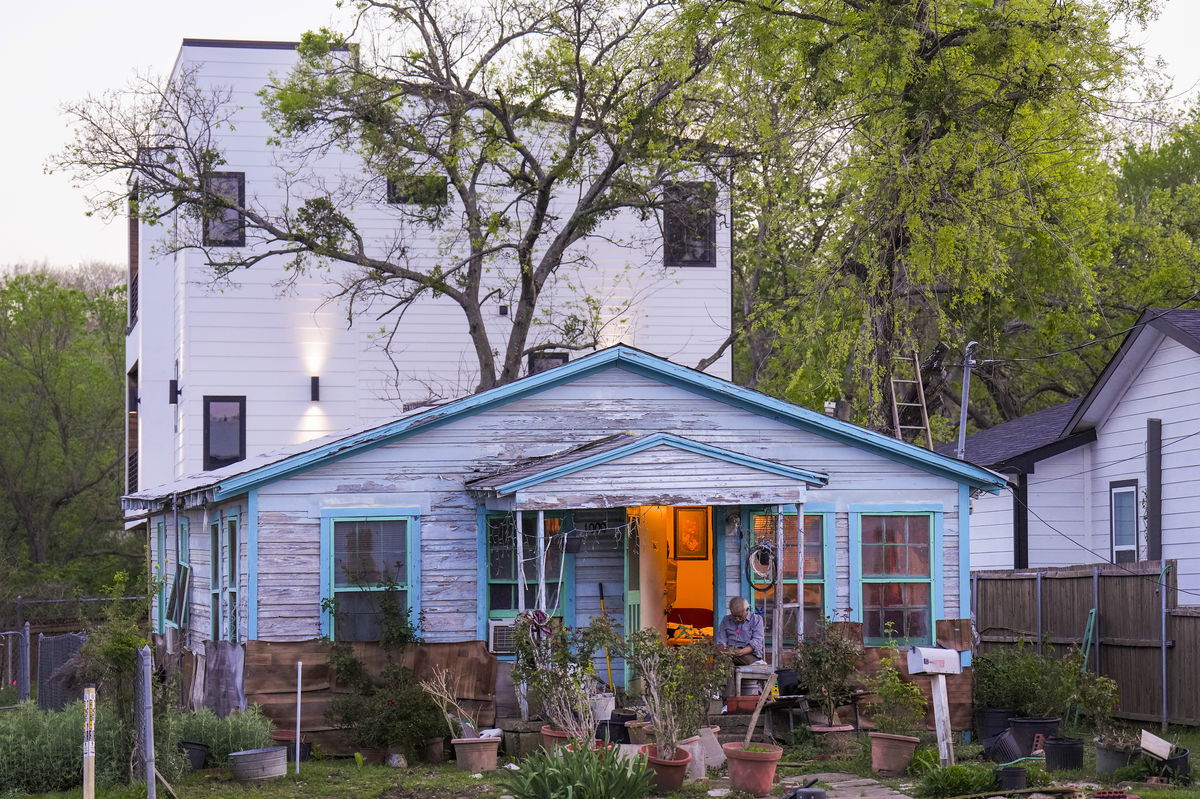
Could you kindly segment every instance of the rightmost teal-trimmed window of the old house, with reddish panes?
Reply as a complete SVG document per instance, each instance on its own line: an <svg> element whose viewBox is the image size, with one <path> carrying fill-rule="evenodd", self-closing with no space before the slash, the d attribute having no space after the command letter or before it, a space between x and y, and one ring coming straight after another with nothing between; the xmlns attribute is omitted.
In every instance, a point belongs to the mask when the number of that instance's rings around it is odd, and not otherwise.
<svg viewBox="0 0 1200 799"><path fill-rule="evenodd" d="M886 630L910 643L932 641L932 518L862 516L863 635L884 642Z"/></svg>

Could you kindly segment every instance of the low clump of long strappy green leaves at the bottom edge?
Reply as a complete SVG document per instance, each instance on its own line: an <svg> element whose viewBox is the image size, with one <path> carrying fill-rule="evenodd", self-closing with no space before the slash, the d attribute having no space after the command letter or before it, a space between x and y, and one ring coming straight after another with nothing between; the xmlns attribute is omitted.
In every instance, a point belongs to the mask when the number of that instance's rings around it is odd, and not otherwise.
<svg viewBox="0 0 1200 799"><path fill-rule="evenodd" d="M616 749L558 747L530 755L500 786L516 799L641 799L650 791L650 770L644 757L624 759Z"/></svg>

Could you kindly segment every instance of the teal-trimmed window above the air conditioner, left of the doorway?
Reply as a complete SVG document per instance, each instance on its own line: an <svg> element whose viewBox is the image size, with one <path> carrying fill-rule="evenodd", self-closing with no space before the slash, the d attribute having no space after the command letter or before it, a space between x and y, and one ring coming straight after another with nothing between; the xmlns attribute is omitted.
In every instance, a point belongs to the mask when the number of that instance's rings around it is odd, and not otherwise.
<svg viewBox="0 0 1200 799"><path fill-rule="evenodd" d="M559 609L560 585L564 579L563 519L544 516L546 543L546 608L553 614ZM521 519L520 565L524 575L524 606L538 607L538 515L526 513ZM487 612L490 618L505 618L517 613L517 529L516 516L487 517Z"/></svg>

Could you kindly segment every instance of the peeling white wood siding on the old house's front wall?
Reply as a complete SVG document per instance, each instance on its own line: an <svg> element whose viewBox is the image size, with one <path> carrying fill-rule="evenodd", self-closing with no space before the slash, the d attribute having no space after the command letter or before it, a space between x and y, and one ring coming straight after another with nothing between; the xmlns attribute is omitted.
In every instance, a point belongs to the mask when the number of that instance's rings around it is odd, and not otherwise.
<svg viewBox="0 0 1200 799"><path fill-rule="evenodd" d="M851 607L851 506L941 505L946 511L944 608L938 615L958 617L956 483L682 388L610 368L260 488L259 637L287 641L318 635L322 510L401 506L419 507L421 513L421 599L428 639L476 637L476 505L463 489L464 482L614 429L674 432L829 474L829 486L810 489L809 501L833 504L838 511L836 593L842 611ZM732 595L739 589L739 564L737 541L727 543L726 595ZM611 575L604 577L607 590L618 579L620 553L614 548L602 558L605 565L596 567ZM577 564L580 587L592 566L586 565L584 553L577 555ZM589 575L586 582L596 581ZM580 595L577 615L589 602Z"/></svg>

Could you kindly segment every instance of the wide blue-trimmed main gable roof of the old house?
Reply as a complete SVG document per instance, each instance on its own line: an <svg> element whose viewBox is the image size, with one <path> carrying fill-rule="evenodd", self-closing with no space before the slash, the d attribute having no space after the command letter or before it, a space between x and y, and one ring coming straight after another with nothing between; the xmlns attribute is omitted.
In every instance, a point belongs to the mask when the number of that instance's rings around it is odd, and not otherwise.
<svg viewBox="0 0 1200 799"><path fill-rule="evenodd" d="M444 405L416 410L382 425L330 435L300 447L254 456L223 469L202 473L174 483L130 494L122 504L126 510L152 510L156 506L162 506L167 498L176 494L182 495L185 504L227 499L282 477L352 456L355 452L403 439L607 368L622 368L668 385L680 386L751 413L815 432L824 438L966 483L973 488L997 492L1004 486L1003 477L972 463L924 450L808 408L800 408L712 374L672 364L626 344L616 344L563 366L530 374L514 383L462 397Z"/></svg>

